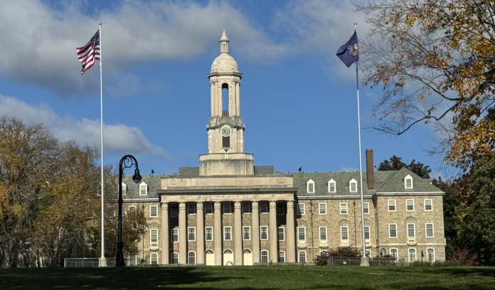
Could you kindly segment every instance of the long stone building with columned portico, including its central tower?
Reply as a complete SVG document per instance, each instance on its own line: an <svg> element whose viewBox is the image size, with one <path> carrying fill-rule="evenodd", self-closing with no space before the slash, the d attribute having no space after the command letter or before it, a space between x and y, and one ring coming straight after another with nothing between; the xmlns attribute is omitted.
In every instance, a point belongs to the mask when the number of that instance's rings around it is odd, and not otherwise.
<svg viewBox="0 0 495 290"><path fill-rule="evenodd" d="M129 264L250 265L312 262L339 246L362 249L358 172L280 173L254 166L244 152L238 65L220 38L208 74L211 117L208 154L179 173L124 176L124 212L137 207L147 234ZM222 90L228 110L222 110ZM445 259L442 195L430 180L406 168L373 171L366 151L363 172L366 254L392 254L406 262Z"/></svg>

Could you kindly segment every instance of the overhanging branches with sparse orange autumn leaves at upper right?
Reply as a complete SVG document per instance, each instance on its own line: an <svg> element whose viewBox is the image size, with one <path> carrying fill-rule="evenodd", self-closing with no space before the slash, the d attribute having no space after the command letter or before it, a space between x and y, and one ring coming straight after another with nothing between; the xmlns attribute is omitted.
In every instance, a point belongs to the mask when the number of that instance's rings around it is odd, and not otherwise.
<svg viewBox="0 0 495 290"><path fill-rule="evenodd" d="M400 135L452 118L445 161L467 171L495 148L495 5L490 0L383 0L355 4L368 15L361 41L364 85L383 86L377 131Z"/></svg>

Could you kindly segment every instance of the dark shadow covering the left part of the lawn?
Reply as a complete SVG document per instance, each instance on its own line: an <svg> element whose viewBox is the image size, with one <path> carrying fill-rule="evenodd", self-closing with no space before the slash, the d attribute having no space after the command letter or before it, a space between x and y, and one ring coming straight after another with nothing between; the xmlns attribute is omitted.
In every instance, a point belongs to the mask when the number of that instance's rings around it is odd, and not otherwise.
<svg viewBox="0 0 495 290"><path fill-rule="evenodd" d="M215 276L202 267L2 269L0 289L217 289L228 280L248 284L243 279Z"/></svg>

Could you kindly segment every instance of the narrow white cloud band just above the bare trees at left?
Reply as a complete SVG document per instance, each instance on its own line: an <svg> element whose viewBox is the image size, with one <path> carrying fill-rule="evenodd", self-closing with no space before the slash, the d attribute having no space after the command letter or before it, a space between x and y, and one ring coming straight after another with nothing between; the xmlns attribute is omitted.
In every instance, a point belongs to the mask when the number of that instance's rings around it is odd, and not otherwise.
<svg viewBox="0 0 495 290"><path fill-rule="evenodd" d="M61 118L46 104L38 107L14 97L0 95L0 116L17 117L27 124L42 123L60 140L74 140L81 145L100 148L100 121ZM164 149L151 144L137 127L124 124L104 124L105 151L109 153L139 152L144 155L165 156Z"/></svg>

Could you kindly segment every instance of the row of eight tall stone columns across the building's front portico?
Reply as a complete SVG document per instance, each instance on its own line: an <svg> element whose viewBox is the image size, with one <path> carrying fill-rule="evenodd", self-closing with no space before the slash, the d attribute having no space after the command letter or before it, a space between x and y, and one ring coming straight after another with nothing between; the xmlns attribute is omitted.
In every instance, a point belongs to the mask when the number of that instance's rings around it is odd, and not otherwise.
<svg viewBox="0 0 495 290"><path fill-rule="evenodd" d="M258 202L252 202L252 262L260 262L260 213L258 210ZM223 257L223 237L222 237L222 221L221 221L221 203L215 202L213 205L213 241L215 250L215 265L222 264ZM205 237L204 237L204 215L203 203L196 203L197 222L196 222L196 263L204 264L205 257ZM277 250L277 202L270 201L270 220L269 220L269 242L270 242L270 260L278 261ZM241 214L241 202L234 203L234 259L236 265L243 264L243 224ZM169 264L169 203L161 203L161 264ZM187 261L187 222L186 222L186 203L179 203L179 261L186 264ZM295 233L294 233L294 200L287 201L287 262L296 262L295 257Z"/></svg>

